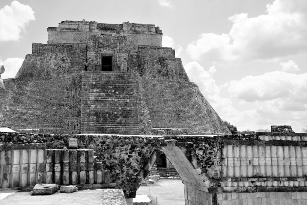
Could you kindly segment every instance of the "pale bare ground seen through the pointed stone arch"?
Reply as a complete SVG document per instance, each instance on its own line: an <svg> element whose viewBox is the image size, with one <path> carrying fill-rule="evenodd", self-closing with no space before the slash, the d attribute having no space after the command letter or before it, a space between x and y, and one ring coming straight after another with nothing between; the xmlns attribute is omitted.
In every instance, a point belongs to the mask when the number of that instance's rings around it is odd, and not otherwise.
<svg viewBox="0 0 307 205"><path fill-rule="evenodd" d="M157 197L157 205L184 205L185 188L180 179L162 179L154 185L141 186L137 194L150 195L150 191Z"/></svg>

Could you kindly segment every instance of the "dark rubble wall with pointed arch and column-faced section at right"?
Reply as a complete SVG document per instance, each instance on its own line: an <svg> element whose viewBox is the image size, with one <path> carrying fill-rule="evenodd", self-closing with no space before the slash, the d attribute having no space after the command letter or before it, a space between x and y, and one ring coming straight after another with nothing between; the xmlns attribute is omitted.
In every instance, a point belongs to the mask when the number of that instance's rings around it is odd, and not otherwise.
<svg viewBox="0 0 307 205"><path fill-rule="evenodd" d="M94 161L101 162L103 170L110 170L112 183L122 187L127 198L135 196L156 159L164 153L186 186L186 204L225 204L226 197L230 200L228 193L238 194L231 195L233 203L243 203L246 197L247 204L259 204L259 199L247 193L262 192L270 193L270 197L275 192L275 202L279 203L292 202L292 193L296 193L301 198L295 198L294 203L307 203L302 198L307 195L306 133L213 137L0 133L0 143L46 142L46 148L68 146L68 138L79 139L80 149L94 150ZM291 199L284 198L290 192ZM268 194L264 196L260 197L261 204L269 200Z"/></svg>

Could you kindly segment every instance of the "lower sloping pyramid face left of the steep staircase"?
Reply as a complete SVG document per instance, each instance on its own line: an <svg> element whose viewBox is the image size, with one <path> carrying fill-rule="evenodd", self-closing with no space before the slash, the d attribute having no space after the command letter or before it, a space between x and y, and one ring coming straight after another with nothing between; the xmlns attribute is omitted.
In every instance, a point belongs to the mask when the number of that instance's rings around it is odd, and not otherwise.
<svg viewBox="0 0 307 205"><path fill-rule="evenodd" d="M1 126L80 133L81 75L5 79L4 84Z"/></svg>

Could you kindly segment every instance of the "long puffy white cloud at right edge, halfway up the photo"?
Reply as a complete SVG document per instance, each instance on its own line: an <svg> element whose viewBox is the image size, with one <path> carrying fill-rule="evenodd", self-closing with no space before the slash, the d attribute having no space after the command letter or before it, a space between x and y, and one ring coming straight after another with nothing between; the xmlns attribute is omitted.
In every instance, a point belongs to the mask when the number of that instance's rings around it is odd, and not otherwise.
<svg viewBox="0 0 307 205"><path fill-rule="evenodd" d="M306 103L307 76L303 74L274 71L259 76L246 76L240 81L231 81L228 91L234 97L247 102L282 99Z"/></svg>

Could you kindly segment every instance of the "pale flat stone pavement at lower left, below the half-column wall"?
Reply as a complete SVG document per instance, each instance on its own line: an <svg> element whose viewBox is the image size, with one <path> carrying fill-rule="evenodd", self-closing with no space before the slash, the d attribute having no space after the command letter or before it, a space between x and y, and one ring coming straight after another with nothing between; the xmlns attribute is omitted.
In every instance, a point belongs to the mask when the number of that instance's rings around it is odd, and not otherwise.
<svg viewBox="0 0 307 205"><path fill-rule="evenodd" d="M14 192L15 191L15 192ZM70 194L60 193L52 195L32 196L32 192L0 191L1 205L55 205L55 204L114 204L126 205L122 189L85 189ZM12 193L13 192L13 193ZM10 194L8 194L10 193Z"/></svg>

